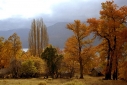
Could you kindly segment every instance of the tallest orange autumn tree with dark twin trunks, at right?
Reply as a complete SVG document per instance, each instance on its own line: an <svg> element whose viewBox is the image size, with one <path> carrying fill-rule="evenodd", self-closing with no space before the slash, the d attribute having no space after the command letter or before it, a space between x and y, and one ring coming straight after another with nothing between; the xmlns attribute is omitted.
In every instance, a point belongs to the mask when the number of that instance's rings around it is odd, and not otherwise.
<svg viewBox="0 0 127 85"><path fill-rule="evenodd" d="M102 10L100 11L100 19L88 19L89 27L102 40L106 41L107 45L107 66L105 72L105 79L111 79L111 73L115 79L118 74L118 56L119 53L119 32L125 28L127 19L127 7L118 7L114 1L106 1L102 3ZM114 67L113 67L114 66Z"/></svg>

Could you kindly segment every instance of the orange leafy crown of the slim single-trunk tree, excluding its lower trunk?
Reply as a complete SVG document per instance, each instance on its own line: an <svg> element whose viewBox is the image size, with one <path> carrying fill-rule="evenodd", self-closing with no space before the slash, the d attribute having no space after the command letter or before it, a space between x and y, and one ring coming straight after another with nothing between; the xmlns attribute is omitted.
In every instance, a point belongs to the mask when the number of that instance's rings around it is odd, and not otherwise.
<svg viewBox="0 0 127 85"><path fill-rule="evenodd" d="M90 34L90 30L80 20L75 20L73 24L67 24L67 27L73 31L74 35L67 40L65 51L78 56L78 52L83 49L83 46L91 43L90 40L84 40Z"/></svg>

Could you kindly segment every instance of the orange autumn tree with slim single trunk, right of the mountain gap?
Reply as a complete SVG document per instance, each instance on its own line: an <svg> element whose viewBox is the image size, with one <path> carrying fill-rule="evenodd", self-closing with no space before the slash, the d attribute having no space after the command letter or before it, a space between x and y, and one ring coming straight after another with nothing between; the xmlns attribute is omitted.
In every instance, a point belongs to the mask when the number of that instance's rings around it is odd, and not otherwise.
<svg viewBox="0 0 127 85"><path fill-rule="evenodd" d="M73 31L73 36L69 38L66 44L68 52L72 55L78 57L78 62L80 64L80 78L83 78L83 56L82 52L85 48L85 38L89 35L90 31L84 23L80 20L75 20L73 24L67 24L67 29Z"/></svg>

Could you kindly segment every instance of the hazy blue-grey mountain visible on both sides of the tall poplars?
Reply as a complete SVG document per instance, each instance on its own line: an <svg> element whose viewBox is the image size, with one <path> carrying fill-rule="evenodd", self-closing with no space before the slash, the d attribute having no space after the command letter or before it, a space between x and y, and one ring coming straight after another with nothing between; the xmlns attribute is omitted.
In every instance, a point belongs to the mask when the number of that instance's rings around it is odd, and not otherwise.
<svg viewBox="0 0 127 85"><path fill-rule="evenodd" d="M72 35L72 32L66 28L67 23L68 22L58 22L54 25L47 27L50 44L59 48L64 47L65 41L69 36ZM23 48L28 48L29 30L30 30L29 28L21 28L21 29L0 31L0 36L3 36L5 39L7 39L14 32L16 32L20 37L20 40L22 41Z"/></svg>

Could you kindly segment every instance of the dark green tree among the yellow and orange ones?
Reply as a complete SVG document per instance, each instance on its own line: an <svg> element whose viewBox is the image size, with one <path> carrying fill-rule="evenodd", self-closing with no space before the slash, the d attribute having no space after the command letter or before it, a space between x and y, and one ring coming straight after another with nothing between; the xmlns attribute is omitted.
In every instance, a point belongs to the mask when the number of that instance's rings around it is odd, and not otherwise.
<svg viewBox="0 0 127 85"><path fill-rule="evenodd" d="M56 48L52 47L51 45L48 46L41 55L41 58L44 59L47 63L48 73L53 77L54 74L58 73L61 60L63 56L58 54Z"/></svg>

